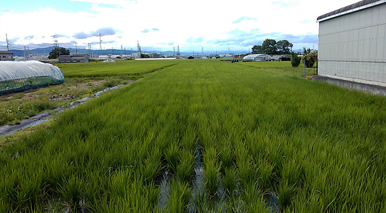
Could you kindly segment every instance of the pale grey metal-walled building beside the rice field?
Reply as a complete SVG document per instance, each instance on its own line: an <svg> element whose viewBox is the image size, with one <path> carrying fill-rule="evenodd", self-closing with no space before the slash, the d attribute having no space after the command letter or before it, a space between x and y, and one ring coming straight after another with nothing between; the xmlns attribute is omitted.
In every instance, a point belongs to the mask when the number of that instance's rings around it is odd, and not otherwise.
<svg viewBox="0 0 386 213"><path fill-rule="evenodd" d="M319 76L386 87L386 0L361 1L317 22Z"/></svg>

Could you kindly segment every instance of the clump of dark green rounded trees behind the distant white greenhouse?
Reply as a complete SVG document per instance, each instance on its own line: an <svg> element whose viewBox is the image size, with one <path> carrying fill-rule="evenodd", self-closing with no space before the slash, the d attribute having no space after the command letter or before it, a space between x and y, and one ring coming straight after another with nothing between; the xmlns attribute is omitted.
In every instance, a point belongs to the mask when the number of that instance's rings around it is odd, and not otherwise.
<svg viewBox="0 0 386 213"><path fill-rule="evenodd" d="M293 46L288 40L276 42L274 39L266 39L262 45L252 47L252 54L284 55L291 53Z"/></svg>

